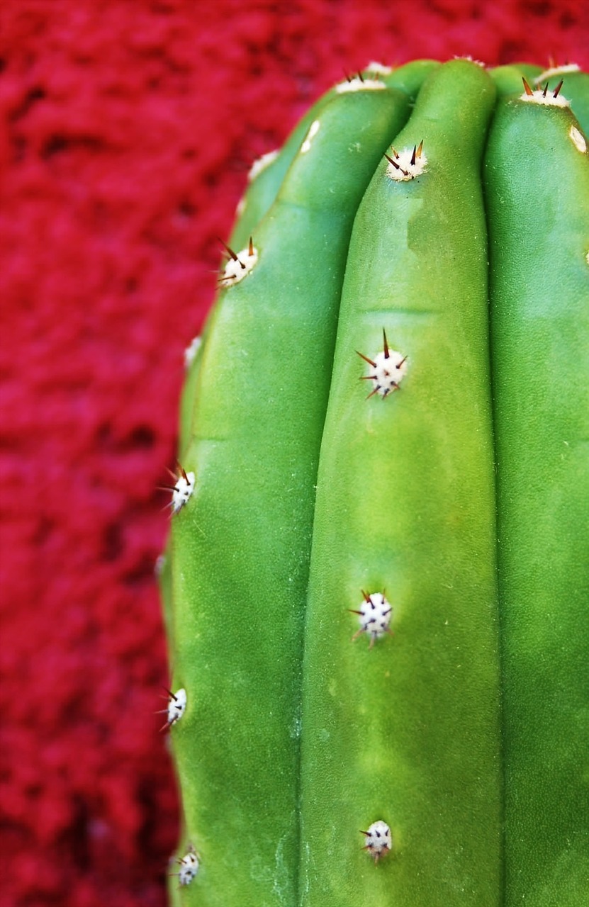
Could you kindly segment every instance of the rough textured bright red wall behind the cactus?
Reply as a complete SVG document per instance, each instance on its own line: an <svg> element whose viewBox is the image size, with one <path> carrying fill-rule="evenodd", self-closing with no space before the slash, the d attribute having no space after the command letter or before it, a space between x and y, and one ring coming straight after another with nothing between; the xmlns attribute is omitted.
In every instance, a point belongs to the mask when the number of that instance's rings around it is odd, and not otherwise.
<svg viewBox="0 0 589 907"><path fill-rule="evenodd" d="M0 6L5 907L162 905L153 563L182 351L250 161L343 71L575 59L584 0Z"/></svg>

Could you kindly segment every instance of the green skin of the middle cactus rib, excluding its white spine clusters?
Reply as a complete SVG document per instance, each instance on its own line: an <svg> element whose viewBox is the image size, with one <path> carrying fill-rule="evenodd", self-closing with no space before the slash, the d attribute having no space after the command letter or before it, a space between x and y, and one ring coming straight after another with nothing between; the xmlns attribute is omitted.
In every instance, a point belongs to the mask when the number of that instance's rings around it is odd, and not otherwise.
<svg viewBox="0 0 589 907"><path fill-rule="evenodd" d="M441 907L456 892L473 907L496 903L496 524L479 175L494 101L478 66L438 71L395 140L398 150L423 139L427 171L395 183L383 161L354 223L309 578L305 905ZM370 387L355 385L372 369L353 351L376 356L383 326L408 357L407 375L392 399L367 401ZM346 609L358 608L360 590L383 589L394 638L350 645L358 620ZM377 819L396 844L375 868L358 829Z"/></svg>

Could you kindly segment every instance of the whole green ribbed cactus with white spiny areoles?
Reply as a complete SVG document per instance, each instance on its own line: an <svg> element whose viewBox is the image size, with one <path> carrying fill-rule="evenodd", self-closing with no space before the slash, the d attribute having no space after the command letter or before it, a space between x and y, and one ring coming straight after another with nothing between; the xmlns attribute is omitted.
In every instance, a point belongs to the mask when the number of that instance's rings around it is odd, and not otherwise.
<svg viewBox="0 0 589 907"><path fill-rule="evenodd" d="M587 902L589 94L570 73L571 109L568 75L375 66L250 182L162 572L173 903Z"/></svg>

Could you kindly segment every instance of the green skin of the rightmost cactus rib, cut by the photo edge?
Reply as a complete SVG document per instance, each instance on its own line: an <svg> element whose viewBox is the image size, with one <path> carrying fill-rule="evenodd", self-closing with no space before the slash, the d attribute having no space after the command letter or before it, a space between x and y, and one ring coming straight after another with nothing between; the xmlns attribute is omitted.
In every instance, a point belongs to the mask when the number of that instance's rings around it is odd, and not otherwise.
<svg viewBox="0 0 589 907"><path fill-rule="evenodd" d="M506 904L537 907L589 896L589 161L572 127L502 102L485 168Z"/></svg>

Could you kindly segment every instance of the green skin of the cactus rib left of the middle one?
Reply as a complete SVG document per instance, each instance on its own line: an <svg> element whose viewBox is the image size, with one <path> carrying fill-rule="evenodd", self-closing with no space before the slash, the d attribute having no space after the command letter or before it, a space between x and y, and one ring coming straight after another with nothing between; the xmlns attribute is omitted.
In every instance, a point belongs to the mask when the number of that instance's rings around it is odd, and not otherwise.
<svg viewBox="0 0 589 907"><path fill-rule="evenodd" d="M223 294L202 349L182 463L199 478L172 523L173 688L189 696L173 740L201 854L189 903L296 898L301 552L352 220L407 114L388 88L325 106L256 231L258 264Z"/></svg>

